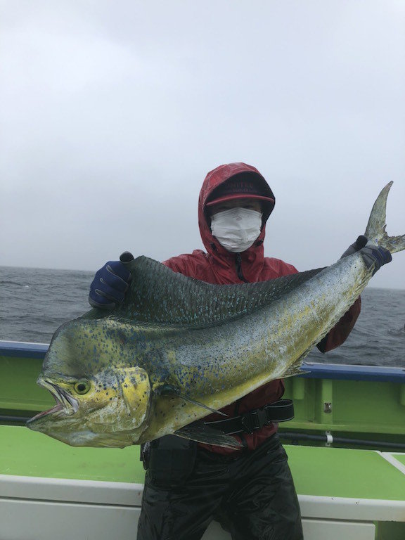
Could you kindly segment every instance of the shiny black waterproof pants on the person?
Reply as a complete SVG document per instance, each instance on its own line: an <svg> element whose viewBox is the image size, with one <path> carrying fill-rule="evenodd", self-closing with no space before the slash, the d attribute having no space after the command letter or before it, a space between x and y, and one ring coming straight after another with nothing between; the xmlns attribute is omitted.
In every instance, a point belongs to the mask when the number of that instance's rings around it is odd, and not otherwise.
<svg viewBox="0 0 405 540"><path fill-rule="evenodd" d="M277 435L237 458L162 437L150 451L138 540L199 540L213 519L233 540L302 540L287 459Z"/></svg>

